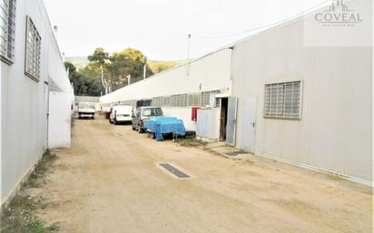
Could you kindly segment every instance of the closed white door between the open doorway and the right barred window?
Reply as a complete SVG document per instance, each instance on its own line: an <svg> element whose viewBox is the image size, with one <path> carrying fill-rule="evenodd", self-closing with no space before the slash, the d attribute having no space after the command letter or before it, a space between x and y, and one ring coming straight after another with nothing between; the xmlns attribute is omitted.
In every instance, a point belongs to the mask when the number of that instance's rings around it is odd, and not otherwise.
<svg viewBox="0 0 374 233"><path fill-rule="evenodd" d="M247 96L241 101L240 141L242 150L254 152L257 97Z"/></svg>

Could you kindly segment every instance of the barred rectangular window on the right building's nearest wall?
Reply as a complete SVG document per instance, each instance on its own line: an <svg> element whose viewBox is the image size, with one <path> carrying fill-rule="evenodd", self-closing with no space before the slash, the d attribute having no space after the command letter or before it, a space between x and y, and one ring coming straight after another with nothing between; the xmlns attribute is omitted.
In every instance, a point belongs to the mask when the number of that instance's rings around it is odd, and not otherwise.
<svg viewBox="0 0 374 233"><path fill-rule="evenodd" d="M264 117L300 119L301 81L265 85Z"/></svg>

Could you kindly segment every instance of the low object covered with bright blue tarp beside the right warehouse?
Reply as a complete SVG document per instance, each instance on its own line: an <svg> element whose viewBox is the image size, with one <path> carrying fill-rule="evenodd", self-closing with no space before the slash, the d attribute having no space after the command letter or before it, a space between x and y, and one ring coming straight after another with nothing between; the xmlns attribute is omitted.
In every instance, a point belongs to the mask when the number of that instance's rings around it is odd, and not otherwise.
<svg viewBox="0 0 374 233"><path fill-rule="evenodd" d="M144 122L147 131L154 132L157 141L162 141L162 133L173 133L180 136L186 135L183 121L176 117L153 117Z"/></svg>

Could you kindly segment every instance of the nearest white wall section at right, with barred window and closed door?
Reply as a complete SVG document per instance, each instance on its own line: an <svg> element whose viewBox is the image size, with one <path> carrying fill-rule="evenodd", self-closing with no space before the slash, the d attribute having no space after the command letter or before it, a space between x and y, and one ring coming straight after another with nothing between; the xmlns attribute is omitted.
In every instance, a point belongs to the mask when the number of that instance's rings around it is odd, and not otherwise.
<svg viewBox="0 0 374 233"><path fill-rule="evenodd" d="M235 44L235 146L372 185L372 47L305 47L303 21Z"/></svg>

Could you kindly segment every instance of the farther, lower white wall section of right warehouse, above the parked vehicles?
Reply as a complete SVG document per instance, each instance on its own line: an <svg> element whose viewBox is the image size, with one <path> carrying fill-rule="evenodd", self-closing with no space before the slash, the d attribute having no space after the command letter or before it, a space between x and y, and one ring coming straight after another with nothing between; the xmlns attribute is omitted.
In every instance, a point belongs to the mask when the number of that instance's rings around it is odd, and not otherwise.
<svg viewBox="0 0 374 233"><path fill-rule="evenodd" d="M231 49L225 48L104 95L103 110L111 104L151 101L165 116L175 116L188 131L196 131L192 106L212 105L211 96L230 92Z"/></svg>

